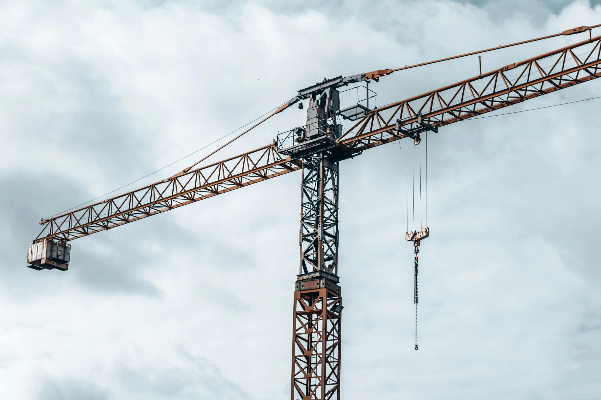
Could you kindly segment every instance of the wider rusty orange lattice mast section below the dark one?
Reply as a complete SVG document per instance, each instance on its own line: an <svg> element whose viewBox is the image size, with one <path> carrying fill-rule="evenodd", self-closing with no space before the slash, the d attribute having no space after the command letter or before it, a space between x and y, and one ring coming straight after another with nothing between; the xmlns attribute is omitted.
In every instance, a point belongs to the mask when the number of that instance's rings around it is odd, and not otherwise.
<svg viewBox="0 0 601 400"><path fill-rule="evenodd" d="M327 278L296 282L291 400L340 400L342 309L336 282Z"/></svg>

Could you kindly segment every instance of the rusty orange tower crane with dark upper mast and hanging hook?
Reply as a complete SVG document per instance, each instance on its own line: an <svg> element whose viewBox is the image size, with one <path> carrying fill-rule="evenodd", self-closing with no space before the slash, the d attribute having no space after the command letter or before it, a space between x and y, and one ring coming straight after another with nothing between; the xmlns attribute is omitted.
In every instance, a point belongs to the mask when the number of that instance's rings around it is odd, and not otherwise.
<svg viewBox="0 0 601 400"><path fill-rule="evenodd" d="M454 122L601 77L601 36L592 35L592 29L599 26L581 26L403 68L324 79L301 89L291 100L233 139L296 103L300 102L302 109L302 101L307 100L306 124L278 133L266 146L198 167L207 156L162 181L41 219L43 230L29 245L28 266L37 270L67 270L69 242L73 239L300 171L300 257L294 290L290 398L340 400L343 305L338 277L338 174L341 161L403 138L418 145L427 131L438 132ZM369 83L395 71L585 32L587 39L570 46L487 73L480 70L478 76L385 106L369 106ZM362 100L341 107L340 89L353 85L367 89L365 104ZM406 240L415 246L415 286L418 246L427 236L428 227L406 233Z"/></svg>

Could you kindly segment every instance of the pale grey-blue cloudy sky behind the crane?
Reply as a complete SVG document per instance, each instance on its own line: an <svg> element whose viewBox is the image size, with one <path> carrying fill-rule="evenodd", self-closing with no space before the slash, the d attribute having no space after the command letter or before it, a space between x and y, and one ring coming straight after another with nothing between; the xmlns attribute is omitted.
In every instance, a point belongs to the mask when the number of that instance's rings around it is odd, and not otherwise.
<svg viewBox="0 0 601 400"><path fill-rule="evenodd" d="M1 397L289 398L299 173L75 240L68 272L25 267L37 222L203 148L323 77L595 25L600 3L2 2ZM578 40L486 53L483 70ZM402 100L477 75L477 62L401 71L371 88L379 105ZM511 111L600 92L593 81ZM341 164L343 399L599 398L600 104L430 134L418 351L406 143ZM294 107L212 160L303 119Z"/></svg>

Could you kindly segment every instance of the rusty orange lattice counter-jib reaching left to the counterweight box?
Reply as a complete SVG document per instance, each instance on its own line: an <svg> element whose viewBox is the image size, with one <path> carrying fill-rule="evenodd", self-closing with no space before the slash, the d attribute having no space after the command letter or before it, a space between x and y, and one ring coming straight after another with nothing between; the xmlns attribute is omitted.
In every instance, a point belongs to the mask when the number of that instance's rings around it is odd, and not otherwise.
<svg viewBox="0 0 601 400"><path fill-rule="evenodd" d="M290 157L280 155L275 145L264 146L90 206L43 219L40 224L44 224L44 229L34 242L77 239L300 168L300 161L290 161Z"/></svg>

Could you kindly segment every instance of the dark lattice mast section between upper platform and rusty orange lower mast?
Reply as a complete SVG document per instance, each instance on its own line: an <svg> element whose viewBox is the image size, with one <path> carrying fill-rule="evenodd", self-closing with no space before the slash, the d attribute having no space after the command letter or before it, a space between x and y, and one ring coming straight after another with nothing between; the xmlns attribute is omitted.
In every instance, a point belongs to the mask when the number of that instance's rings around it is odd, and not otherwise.
<svg viewBox="0 0 601 400"><path fill-rule="evenodd" d="M303 159L299 273L338 275L338 161L324 152Z"/></svg>

